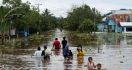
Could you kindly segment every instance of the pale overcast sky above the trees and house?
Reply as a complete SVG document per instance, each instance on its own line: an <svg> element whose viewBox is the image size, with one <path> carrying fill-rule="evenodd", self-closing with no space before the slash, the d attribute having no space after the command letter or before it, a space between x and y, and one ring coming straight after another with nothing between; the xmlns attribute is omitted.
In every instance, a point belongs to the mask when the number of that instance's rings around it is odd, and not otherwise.
<svg viewBox="0 0 132 70"><path fill-rule="evenodd" d="M2 0L0 0L2 1ZM108 13L110 10L117 10L121 8L132 9L132 0L22 0L29 1L31 5L40 5L40 10L48 8L55 16L67 15L67 12L72 6L80 6L87 4L90 7L97 8L102 14ZM36 5L35 5L36 6ZM37 7L37 6L36 6Z"/></svg>

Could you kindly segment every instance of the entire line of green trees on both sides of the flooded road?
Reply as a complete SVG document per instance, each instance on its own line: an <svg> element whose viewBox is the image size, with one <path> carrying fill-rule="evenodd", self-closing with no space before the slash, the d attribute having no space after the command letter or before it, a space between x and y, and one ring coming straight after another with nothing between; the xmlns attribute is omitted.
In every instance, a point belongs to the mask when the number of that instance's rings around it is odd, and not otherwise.
<svg viewBox="0 0 132 70"><path fill-rule="evenodd" d="M66 18L55 17L48 9L39 13L39 9L31 6L30 2L21 0L3 0L0 7L0 32L10 28L27 30L30 33L43 32L56 27L80 32L96 31L96 23L101 22L102 16L95 8L88 5L73 7Z"/></svg>

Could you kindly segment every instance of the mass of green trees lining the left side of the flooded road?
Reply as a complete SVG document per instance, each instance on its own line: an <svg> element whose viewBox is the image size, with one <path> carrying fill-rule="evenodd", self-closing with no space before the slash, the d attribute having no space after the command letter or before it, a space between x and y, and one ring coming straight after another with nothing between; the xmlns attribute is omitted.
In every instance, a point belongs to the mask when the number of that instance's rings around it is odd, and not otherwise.
<svg viewBox="0 0 132 70"><path fill-rule="evenodd" d="M2 45L7 44L11 37L9 32L11 29L16 29L19 41L21 36L24 37L24 32L28 32L28 35L38 33L39 36L57 27L57 18L48 9L39 13L39 9L31 6L28 1L22 3L21 0L3 0L3 6L0 6L0 18Z"/></svg>

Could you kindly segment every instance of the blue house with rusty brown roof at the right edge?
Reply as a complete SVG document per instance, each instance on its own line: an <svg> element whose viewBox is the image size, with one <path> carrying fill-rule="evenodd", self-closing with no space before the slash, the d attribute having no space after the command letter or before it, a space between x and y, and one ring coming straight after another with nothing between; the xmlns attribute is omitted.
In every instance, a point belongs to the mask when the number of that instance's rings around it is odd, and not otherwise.
<svg viewBox="0 0 132 70"><path fill-rule="evenodd" d="M104 22L108 32L132 32L132 9L112 10Z"/></svg>

